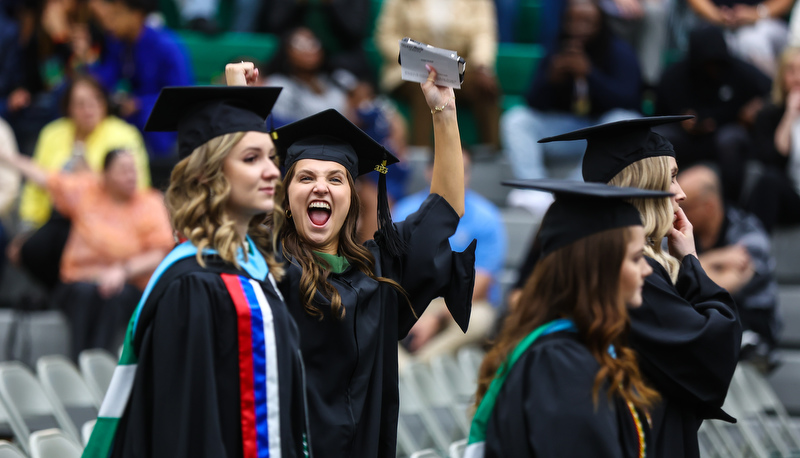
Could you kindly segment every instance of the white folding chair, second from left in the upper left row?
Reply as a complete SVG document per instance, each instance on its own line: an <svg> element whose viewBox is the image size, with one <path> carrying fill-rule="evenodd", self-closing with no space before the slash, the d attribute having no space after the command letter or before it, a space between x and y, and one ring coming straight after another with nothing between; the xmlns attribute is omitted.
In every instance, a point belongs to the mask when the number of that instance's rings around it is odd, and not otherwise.
<svg viewBox="0 0 800 458"><path fill-rule="evenodd" d="M100 402L72 361L61 355L42 356L36 361L36 374L44 392L53 404L61 404L76 428L97 418Z"/></svg>

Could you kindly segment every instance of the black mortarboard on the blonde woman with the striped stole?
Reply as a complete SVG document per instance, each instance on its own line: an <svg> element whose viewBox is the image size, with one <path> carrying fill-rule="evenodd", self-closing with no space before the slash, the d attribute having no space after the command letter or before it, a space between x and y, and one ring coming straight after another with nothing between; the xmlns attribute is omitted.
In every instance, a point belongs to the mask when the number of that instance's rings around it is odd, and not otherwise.
<svg viewBox="0 0 800 458"><path fill-rule="evenodd" d="M178 131L181 159L212 138L264 132L279 87L173 86L161 89L146 131Z"/></svg>

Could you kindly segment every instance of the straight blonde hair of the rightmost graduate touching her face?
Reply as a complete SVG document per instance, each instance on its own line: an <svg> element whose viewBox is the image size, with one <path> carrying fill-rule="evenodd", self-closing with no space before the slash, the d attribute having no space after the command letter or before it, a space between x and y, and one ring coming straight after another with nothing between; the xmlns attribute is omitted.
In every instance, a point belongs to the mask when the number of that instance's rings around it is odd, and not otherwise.
<svg viewBox="0 0 800 458"><path fill-rule="evenodd" d="M671 180L669 159L667 156L655 156L644 158L625 167L608 184L653 191L669 191ZM669 252L661 249L661 241L672 228L674 219L672 202L669 198L631 199L630 202L642 216L642 225L648 240L644 247L645 254L661 264L669 273L672 283L675 283L678 279L680 262Z"/></svg>

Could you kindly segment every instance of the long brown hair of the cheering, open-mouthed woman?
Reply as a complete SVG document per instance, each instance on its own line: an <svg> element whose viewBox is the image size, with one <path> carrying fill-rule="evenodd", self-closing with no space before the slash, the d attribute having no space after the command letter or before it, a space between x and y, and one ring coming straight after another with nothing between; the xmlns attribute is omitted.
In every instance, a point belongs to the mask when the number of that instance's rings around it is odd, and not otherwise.
<svg viewBox="0 0 800 458"><path fill-rule="evenodd" d="M281 202L283 208L289 207L289 187L294 178L296 166L297 163L294 163L286 171L286 176L283 179L284 191L280 194L275 194L276 202ZM356 225L361 203L350 172L347 172L347 184L350 186L350 209L339 231L339 255L344 256L353 268L358 269L364 275L378 282L389 284L406 297L405 291L399 283L390 278L375 275L375 258L367 248L358 243ZM345 308L342 306L342 297L339 295L339 291L327 281L330 273L328 263L315 255L314 250L300 237L293 219L287 219L285 213L278 211L273 212L270 219L274 224L281 226L278 235L285 258L289 262L296 262L303 271L300 277L300 297L306 312L311 316L319 317L320 320L322 319L323 313L314 303L314 296L319 291L323 297L331 301L331 313L333 316L339 319L344 318ZM407 297L406 300L408 300Z"/></svg>

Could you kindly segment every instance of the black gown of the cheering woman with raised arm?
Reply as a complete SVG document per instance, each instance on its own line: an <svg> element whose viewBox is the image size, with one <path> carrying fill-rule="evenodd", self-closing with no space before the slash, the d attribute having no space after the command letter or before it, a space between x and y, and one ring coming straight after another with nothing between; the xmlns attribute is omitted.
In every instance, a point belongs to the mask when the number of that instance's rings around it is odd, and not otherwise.
<svg viewBox="0 0 800 458"><path fill-rule="evenodd" d="M396 224L408 244L405 255L392 257L374 241L365 246L375 257L375 274L400 283L417 316L443 296L465 328L475 281L475 242L463 253L450 249L448 238L458 221L447 201L432 194L419 211ZM397 341L416 322L409 304L390 285L350 267L328 277L342 297L344 318L333 317L330 301L318 294L320 320L303 308L300 267L291 260L284 265L287 274L279 288L300 329L314 455L394 457Z"/></svg>

